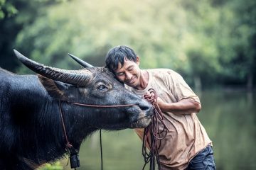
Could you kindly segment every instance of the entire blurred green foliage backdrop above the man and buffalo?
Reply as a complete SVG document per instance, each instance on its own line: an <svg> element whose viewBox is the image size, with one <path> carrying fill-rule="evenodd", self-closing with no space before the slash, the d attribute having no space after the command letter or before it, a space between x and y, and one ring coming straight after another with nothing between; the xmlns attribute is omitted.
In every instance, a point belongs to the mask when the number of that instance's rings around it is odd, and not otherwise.
<svg viewBox="0 0 256 170"><path fill-rule="evenodd" d="M103 66L110 47L129 45L142 68L171 68L191 84L256 78L255 1L18 1L22 8L9 1L18 15L4 25L20 28L9 47L53 67L80 68L68 52Z"/></svg>

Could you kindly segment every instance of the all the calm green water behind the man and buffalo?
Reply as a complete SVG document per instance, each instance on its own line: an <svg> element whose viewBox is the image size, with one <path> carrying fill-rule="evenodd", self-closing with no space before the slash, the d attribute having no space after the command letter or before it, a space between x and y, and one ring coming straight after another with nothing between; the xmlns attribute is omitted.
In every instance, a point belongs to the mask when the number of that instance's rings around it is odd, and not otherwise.
<svg viewBox="0 0 256 170"><path fill-rule="evenodd" d="M198 117L213 140L219 170L256 169L255 98L256 94L242 91L201 94L202 111ZM102 142L105 170L142 169L142 142L133 130L105 131ZM80 164L79 169L100 169L99 133L83 143Z"/></svg>

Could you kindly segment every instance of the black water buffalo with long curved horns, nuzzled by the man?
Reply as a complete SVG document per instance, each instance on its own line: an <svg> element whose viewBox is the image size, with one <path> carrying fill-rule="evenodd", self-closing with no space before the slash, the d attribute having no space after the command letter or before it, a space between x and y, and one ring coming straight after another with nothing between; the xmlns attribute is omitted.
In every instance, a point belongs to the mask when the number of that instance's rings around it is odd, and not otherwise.
<svg viewBox="0 0 256 170"><path fill-rule="evenodd" d="M15 53L38 76L0 68L1 170L36 169L67 152L78 154L87 135L99 129L145 128L150 123L151 105L124 89L106 68L64 70Z"/></svg>

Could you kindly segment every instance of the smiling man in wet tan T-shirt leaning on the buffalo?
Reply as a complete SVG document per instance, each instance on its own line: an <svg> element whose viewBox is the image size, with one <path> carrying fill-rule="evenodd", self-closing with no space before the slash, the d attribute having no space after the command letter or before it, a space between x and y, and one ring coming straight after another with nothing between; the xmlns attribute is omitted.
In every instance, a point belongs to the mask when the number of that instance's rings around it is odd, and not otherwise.
<svg viewBox="0 0 256 170"><path fill-rule="evenodd" d="M196 115L201 103L181 75L171 69L140 69L139 57L124 45L107 52L105 62L117 79L135 94L143 96L149 89L156 91L157 103L169 130L159 148L162 170L215 169L212 142ZM136 131L142 138L144 131Z"/></svg>

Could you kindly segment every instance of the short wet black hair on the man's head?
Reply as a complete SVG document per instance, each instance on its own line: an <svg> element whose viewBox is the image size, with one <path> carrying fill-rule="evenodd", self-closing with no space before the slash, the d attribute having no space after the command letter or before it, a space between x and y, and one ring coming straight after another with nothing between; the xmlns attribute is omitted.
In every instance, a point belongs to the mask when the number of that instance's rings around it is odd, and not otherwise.
<svg viewBox="0 0 256 170"><path fill-rule="evenodd" d="M124 65L124 59L136 62L137 55L132 48L125 45L113 47L109 50L109 52L107 52L105 59L106 67L110 69L111 72L114 72L114 70L118 68L119 62L122 64L122 66Z"/></svg>

